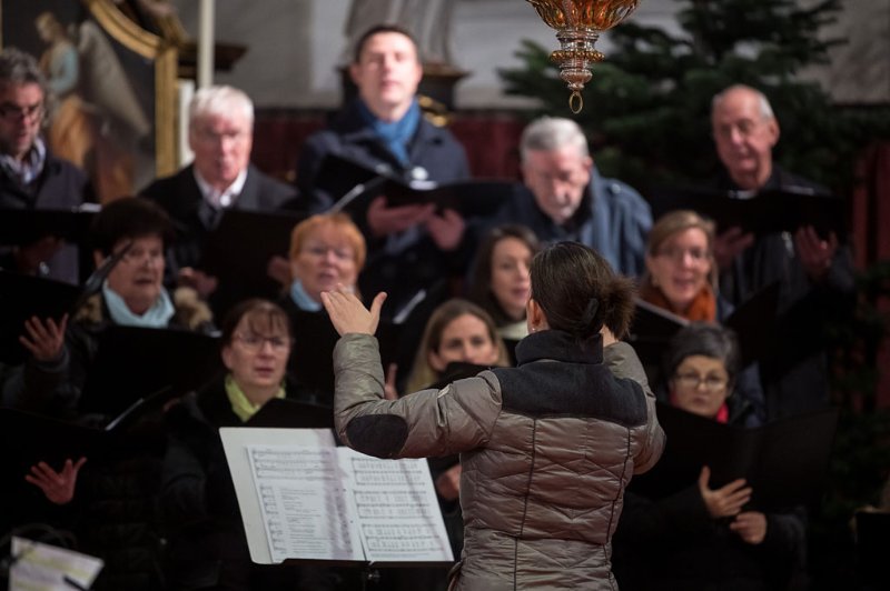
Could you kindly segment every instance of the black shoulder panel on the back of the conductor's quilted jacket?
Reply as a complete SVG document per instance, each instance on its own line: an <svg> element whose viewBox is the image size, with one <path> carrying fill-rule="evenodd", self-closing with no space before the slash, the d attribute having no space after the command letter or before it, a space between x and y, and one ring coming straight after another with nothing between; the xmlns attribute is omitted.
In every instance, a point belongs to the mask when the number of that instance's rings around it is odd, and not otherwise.
<svg viewBox="0 0 890 591"><path fill-rule="evenodd" d="M646 422L645 393L602 364L537 361L493 370L504 409L530 417L590 417L637 427Z"/></svg>

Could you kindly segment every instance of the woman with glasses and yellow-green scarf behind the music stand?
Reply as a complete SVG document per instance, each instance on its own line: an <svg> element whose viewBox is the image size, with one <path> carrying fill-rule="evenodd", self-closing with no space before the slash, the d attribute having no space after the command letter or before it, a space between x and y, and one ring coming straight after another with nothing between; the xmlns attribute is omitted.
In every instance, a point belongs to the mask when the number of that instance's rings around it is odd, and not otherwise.
<svg viewBox="0 0 890 591"><path fill-rule="evenodd" d="M300 589L298 572L250 562L220 427L245 427L285 383L290 322L273 302L246 300L226 317L225 377L167 412L168 444L159 508L167 530L168 588Z"/></svg>

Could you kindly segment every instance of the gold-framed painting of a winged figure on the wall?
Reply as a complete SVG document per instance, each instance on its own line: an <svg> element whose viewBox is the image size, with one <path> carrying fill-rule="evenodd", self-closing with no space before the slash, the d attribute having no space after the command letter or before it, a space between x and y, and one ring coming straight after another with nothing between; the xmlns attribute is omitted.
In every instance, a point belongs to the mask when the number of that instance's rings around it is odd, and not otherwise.
<svg viewBox="0 0 890 591"><path fill-rule="evenodd" d="M0 44L47 77L50 150L89 174L100 202L176 170L172 44L111 0L0 0Z"/></svg>

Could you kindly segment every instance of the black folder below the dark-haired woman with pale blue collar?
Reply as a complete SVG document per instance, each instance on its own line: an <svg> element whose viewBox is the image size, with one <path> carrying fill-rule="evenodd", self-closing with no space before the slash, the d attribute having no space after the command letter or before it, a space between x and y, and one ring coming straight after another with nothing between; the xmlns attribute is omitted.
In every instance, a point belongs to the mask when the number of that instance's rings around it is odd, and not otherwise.
<svg viewBox="0 0 890 591"><path fill-rule="evenodd" d="M177 329L106 327L80 410L117 415L155 392L194 390L221 371L219 339Z"/></svg>

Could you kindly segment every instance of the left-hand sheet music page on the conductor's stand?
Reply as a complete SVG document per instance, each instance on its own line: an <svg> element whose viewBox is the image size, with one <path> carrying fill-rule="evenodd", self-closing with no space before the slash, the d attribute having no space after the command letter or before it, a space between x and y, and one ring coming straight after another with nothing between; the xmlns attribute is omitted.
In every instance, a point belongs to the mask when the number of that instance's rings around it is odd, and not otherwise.
<svg viewBox="0 0 890 591"><path fill-rule="evenodd" d="M273 562L364 561L336 449L247 445Z"/></svg>

